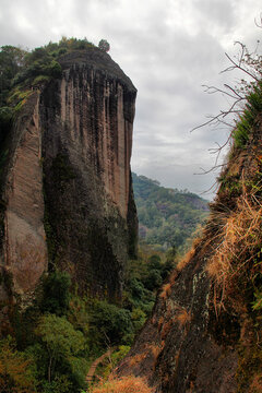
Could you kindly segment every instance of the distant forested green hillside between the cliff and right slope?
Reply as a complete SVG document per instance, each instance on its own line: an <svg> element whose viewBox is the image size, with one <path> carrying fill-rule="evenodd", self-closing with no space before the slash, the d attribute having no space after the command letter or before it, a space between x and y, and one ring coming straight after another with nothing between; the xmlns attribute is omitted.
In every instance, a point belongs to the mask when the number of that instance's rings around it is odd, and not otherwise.
<svg viewBox="0 0 262 393"><path fill-rule="evenodd" d="M145 176L132 177L140 239L158 249L183 249L207 217L207 201L188 191L160 187Z"/></svg>

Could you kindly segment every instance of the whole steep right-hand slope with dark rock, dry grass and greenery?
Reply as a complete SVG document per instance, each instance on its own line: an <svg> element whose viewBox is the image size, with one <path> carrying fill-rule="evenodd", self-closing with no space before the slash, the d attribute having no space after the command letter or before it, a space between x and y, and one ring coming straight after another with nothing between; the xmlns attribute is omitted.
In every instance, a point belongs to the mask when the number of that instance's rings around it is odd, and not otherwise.
<svg viewBox="0 0 262 393"><path fill-rule="evenodd" d="M157 392L262 390L261 86L247 99L203 236L117 369Z"/></svg>

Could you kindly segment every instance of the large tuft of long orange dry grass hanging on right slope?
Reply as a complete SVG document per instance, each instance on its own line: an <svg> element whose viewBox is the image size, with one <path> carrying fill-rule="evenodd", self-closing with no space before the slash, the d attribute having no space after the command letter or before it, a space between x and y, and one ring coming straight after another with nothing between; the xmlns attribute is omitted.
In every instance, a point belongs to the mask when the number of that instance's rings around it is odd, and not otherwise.
<svg viewBox="0 0 262 393"><path fill-rule="evenodd" d="M221 290L219 305L229 294L230 287L248 267L253 266L261 249L262 205L255 196L248 198L246 193L239 198L237 209L228 216L219 217L219 235L214 238L216 247L206 265L206 271L213 277L216 290ZM252 266L250 266L252 263ZM249 272L251 278L252 272Z"/></svg>

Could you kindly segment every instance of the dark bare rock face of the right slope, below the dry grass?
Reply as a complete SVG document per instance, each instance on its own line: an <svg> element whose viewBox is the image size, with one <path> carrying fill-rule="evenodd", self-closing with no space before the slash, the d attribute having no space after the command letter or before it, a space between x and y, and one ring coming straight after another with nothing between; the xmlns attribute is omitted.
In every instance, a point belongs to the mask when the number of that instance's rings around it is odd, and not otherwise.
<svg viewBox="0 0 262 393"><path fill-rule="evenodd" d="M159 393L236 392L238 356L229 332L221 336L226 342L228 334L227 346L210 330L212 286L202 246L159 293L152 318L118 367L119 376L144 377Z"/></svg>

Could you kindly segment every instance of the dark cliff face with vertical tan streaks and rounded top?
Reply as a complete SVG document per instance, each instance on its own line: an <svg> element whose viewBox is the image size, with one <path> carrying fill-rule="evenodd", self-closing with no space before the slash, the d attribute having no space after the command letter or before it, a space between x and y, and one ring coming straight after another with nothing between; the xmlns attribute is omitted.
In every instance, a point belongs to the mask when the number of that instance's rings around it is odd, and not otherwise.
<svg viewBox="0 0 262 393"><path fill-rule="evenodd" d="M50 261L114 296L131 238L135 88L107 57L92 49L61 59L63 79L43 92L40 112Z"/></svg>

